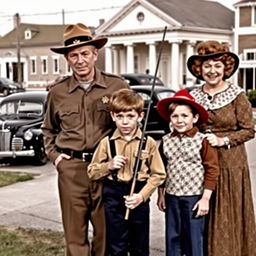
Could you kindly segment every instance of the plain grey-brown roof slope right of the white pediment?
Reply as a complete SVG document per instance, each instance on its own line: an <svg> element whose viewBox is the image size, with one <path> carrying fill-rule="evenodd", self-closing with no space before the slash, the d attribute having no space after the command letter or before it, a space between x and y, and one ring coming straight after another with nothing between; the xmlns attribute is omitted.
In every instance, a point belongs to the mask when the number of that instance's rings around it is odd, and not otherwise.
<svg viewBox="0 0 256 256"><path fill-rule="evenodd" d="M147 0L183 26L232 29L234 12L215 1Z"/></svg>

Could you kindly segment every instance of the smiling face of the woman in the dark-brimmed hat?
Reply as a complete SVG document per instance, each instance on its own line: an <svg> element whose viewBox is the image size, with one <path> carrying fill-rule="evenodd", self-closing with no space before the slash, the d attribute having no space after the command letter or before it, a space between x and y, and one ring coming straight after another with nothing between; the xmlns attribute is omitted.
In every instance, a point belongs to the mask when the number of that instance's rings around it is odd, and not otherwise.
<svg viewBox="0 0 256 256"><path fill-rule="evenodd" d="M202 64L202 76L210 86L216 86L223 81L225 65L221 61L206 60Z"/></svg>

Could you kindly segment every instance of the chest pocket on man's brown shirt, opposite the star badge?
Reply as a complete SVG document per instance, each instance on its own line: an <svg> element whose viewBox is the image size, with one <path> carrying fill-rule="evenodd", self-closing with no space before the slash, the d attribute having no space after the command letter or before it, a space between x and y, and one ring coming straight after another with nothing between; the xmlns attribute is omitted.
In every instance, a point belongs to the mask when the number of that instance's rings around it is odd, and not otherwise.
<svg viewBox="0 0 256 256"><path fill-rule="evenodd" d="M81 122L79 106L67 105L59 112L61 125L64 130L77 128Z"/></svg>

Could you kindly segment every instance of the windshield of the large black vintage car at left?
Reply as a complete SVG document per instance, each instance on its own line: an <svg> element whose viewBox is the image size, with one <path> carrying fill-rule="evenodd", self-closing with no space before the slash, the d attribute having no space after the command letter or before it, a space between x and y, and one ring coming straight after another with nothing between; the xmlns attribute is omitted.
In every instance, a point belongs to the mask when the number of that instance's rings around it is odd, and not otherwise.
<svg viewBox="0 0 256 256"><path fill-rule="evenodd" d="M43 114L43 103L35 101L9 101L0 106L0 115L40 116Z"/></svg>

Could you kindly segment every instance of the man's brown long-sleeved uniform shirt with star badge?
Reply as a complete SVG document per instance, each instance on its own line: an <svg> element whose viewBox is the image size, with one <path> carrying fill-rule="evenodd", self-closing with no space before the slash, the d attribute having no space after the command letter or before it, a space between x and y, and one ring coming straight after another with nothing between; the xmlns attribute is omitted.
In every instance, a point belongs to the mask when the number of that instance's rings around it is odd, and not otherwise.
<svg viewBox="0 0 256 256"><path fill-rule="evenodd" d="M129 86L118 76L95 71L88 90L71 76L49 91L42 130L46 153L52 162L60 154L57 148L92 151L113 129L110 96Z"/></svg>

